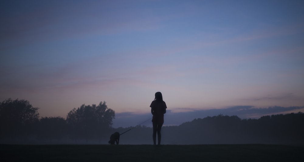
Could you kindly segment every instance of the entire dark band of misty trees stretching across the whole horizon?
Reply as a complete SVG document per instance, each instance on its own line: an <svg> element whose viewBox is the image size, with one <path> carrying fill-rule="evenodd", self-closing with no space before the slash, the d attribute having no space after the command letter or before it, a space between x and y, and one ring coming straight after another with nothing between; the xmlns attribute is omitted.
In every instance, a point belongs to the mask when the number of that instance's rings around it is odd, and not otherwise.
<svg viewBox="0 0 304 162"><path fill-rule="evenodd" d="M152 128L112 128L115 112L105 102L81 105L67 118L39 117L27 100L0 102L2 144L108 144L114 132L119 144L152 144ZM304 113L267 115L259 119L217 115L179 126L163 126L162 144L304 144Z"/></svg>

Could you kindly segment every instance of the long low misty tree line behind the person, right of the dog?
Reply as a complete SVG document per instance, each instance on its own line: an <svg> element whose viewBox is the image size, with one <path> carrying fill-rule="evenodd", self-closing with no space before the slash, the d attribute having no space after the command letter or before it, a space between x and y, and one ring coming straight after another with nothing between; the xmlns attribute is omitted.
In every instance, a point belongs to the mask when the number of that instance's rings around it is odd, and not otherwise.
<svg viewBox="0 0 304 162"><path fill-rule="evenodd" d="M152 128L134 128L120 137L121 144L152 144ZM130 128L117 128L124 132ZM179 126L163 126L163 144L304 144L304 113L240 119L233 115L208 116Z"/></svg>

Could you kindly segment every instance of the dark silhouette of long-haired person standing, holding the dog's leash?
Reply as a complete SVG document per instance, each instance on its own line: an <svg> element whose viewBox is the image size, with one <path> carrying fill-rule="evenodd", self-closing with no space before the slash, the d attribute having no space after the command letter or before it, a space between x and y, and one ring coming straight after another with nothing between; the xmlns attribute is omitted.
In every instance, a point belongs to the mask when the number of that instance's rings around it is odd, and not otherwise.
<svg viewBox="0 0 304 162"><path fill-rule="evenodd" d="M151 105L151 113L153 115L152 123L153 123L153 144L156 146L156 133L158 145L161 145L161 127L164 124L164 114L166 113L167 105L163 101L163 96L161 92L155 93L154 101L152 101Z"/></svg>

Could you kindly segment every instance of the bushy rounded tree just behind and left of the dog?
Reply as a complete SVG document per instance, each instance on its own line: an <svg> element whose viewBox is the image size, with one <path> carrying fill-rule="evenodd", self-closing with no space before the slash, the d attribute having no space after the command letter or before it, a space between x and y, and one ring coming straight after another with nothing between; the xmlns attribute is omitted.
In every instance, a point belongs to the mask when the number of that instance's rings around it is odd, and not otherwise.
<svg viewBox="0 0 304 162"><path fill-rule="evenodd" d="M89 139L100 141L112 126L114 118L114 110L109 109L105 102L100 102L98 106L83 104L67 114L69 137L73 140L85 139L87 142Z"/></svg>

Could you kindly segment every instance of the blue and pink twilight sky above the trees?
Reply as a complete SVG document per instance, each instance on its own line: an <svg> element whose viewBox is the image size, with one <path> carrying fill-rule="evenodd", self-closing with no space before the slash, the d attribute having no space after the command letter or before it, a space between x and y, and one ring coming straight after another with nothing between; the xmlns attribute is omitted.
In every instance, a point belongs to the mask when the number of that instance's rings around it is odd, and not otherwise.
<svg viewBox="0 0 304 162"><path fill-rule="evenodd" d="M0 13L0 101L42 117L105 101L113 125L138 124L157 91L189 120L304 112L302 0L16 0Z"/></svg>

